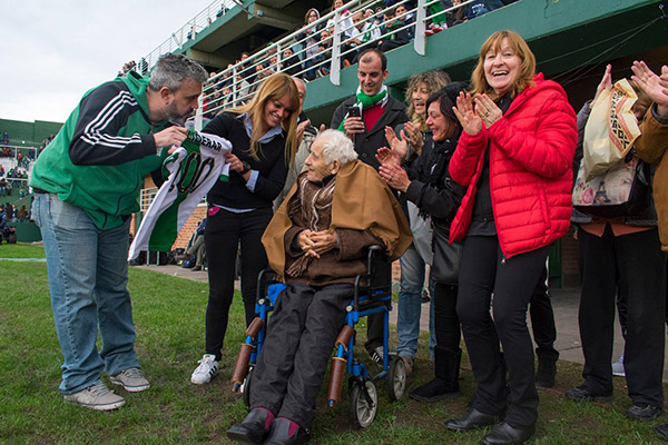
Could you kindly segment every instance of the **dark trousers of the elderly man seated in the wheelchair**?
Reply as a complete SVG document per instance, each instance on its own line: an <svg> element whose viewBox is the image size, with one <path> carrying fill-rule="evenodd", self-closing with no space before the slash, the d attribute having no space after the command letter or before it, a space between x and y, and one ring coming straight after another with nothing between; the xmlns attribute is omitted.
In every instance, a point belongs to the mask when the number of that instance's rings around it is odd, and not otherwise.
<svg viewBox="0 0 668 445"><path fill-rule="evenodd" d="M317 393L352 298L350 284L287 286L269 318L253 374L250 408L263 407L311 428Z"/></svg>

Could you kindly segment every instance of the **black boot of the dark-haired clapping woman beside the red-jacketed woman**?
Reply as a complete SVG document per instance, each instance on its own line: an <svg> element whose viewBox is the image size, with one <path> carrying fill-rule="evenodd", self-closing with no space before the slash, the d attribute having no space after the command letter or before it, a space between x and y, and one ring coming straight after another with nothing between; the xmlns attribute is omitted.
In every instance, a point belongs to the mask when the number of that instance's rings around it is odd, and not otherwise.
<svg viewBox="0 0 668 445"><path fill-rule="evenodd" d="M459 392L459 372L462 350L448 352L438 346L434 348L433 380L416 387L409 395L420 402L438 402L445 397L454 397Z"/></svg>

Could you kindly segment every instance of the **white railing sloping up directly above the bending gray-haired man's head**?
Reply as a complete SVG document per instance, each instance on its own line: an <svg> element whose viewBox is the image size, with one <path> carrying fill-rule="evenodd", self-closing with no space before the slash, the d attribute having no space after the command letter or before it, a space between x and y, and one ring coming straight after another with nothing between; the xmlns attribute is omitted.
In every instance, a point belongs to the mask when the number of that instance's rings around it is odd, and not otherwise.
<svg viewBox="0 0 668 445"><path fill-rule="evenodd" d="M216 0L203 9L197 16L188 20L186 24L174 31L168 39L160 43L156 49L144 56L137 62L137 71L143 75L158 61L160 56L181 49L184 44L194 40L198 32L212 24L218 18L225 16L233 7L233 0Z"/></svg>

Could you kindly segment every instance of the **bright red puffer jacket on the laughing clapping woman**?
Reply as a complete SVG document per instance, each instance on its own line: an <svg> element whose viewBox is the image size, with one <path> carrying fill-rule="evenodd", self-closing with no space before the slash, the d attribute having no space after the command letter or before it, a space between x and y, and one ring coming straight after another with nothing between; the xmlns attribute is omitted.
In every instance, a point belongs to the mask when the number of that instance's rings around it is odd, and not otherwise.
<svg viewBox="0 0 668 445"><path fill-rule="evenodd" d="M468 190L450 228L451 241L463 239L469 230L488 142L492 208L503 255L534 250L568 231L576 113L561 86L542 73L533 81L490 128L460 138L450 175Z"/></svg>

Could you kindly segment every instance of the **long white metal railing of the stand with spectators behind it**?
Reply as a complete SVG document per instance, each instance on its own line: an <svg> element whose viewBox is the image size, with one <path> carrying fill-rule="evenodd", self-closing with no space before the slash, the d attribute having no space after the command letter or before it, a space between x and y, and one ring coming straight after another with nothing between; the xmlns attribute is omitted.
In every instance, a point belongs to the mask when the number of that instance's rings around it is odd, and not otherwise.
<svg viewBox="0 0 668 445"><path fill-rule="evenodd" d="M275 72L287 72L292 76L313 80L328 77L334 85L341 82L341 69L354 61L360 48L369 43L391 38L401 31L407 31L412 38L413 49L425 55L426 37L430 26L435 23L438 31L446 28L445 17L460 8L466 8L478 0L466 0L455 7L443 9L440 0L418 0L413 9L396 16L394 20L410 22L385 29L380 21L386 11L399 6L407 6L403 0L392 8L377 9L369 17L355 21L360 11L364 12L374 1L352 0L343 7L331 11L318 20L304 26L289 36L250 55L227 69L213 76L204 87L199 98L199 108L195 119L195 128L200 129L205 117L213 117L224 108L235 107L247 101L259 83ZM382 32L382 31L385 32ZM332 31L332 32L331 32ZM360 39L369 34L371 38ZM316 38L317 37L317 38ZM406 42L410 44L410 42Z"/></svg>

